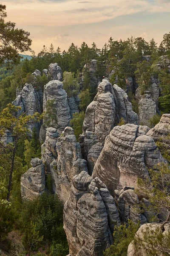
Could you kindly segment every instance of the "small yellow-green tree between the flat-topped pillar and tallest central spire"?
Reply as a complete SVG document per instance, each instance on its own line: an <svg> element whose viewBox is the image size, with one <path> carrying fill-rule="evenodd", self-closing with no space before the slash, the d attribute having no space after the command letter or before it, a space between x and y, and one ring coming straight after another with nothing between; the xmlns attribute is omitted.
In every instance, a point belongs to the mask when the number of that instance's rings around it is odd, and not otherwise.
<svg viewBox="0 0 170 256"><path fill-rule="evenodd" d="M73 119L70 121L70 125L74 129L74 134L76 136L77 141L79 140L79 135L82 134L82 124L85 118L85 113L82 111L80 113L74 113Z"/></svg>

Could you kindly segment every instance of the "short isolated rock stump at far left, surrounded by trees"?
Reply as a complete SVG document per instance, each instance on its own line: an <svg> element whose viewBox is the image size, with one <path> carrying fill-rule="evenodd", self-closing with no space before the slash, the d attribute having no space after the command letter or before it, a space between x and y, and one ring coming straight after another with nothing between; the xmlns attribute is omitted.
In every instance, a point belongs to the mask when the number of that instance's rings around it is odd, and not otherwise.
<svg viewBox="0 0 170 256"><path fill-rule="evenodd" d="M23 200L34 199L45 191L45 166L42 160L31 160L31 168L21 176L21 196Z"/></svg>

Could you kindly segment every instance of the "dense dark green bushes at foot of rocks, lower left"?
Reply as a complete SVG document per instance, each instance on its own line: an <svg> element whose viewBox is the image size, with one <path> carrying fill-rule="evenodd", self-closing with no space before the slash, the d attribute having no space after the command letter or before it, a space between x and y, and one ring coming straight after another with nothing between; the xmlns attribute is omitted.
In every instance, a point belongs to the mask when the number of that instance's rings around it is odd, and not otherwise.
<svg viewBox="0 0 170 256"><path fill-rule="evenodd" d="M28 236L34 235L38 239L43 237L43 241L53 240L59 244L67 244L62 227L62 204L57 195L44 193L33 201L25 201L18 226L24 234L23 242L26 248L30 247ZM42 240L39 240L37 244L40 246L41 242Z"/></svg>

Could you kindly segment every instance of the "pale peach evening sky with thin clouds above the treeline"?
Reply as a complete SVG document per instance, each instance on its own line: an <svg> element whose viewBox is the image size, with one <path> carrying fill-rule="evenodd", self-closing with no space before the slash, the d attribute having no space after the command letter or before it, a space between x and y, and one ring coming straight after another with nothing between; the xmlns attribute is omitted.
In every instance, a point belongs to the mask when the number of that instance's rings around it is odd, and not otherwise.
<svg viewBox="0 0 170 256"><path fill-rule="evenodd" d="M160 44L170 32L170 0L2 0L7 20L30 32L31 48L67 50L95 42L102 48L112 37L131 35ZM27 52L28 53L28 52Z"/></svg>

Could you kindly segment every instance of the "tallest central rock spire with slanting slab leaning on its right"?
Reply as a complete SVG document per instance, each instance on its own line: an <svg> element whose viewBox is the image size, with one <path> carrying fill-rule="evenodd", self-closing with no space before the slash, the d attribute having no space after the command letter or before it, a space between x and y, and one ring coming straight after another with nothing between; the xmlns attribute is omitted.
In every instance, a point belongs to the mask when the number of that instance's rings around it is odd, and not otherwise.
<svg viewBox="0 0 170 256"><path fill-rule="evenodd" d="M138 124L138 115L132 111L132 105L128 102L125 91L116 84L112 86L108 80L103 79L98 85L98 93L94 101L88 105L86 110L83 136L80 137L82 154L88 160L90 172L92 172L99 151L104 145L105 137L119 123L121 118L124 119L125 123ZM98 142L100 144L96 144ZM89 152L92 146L92 152ZM94 152L96 152L96 156L94 156ZM89 157L88 153L91 154ZM92 155L93 163L91 162Z"/></svg>

